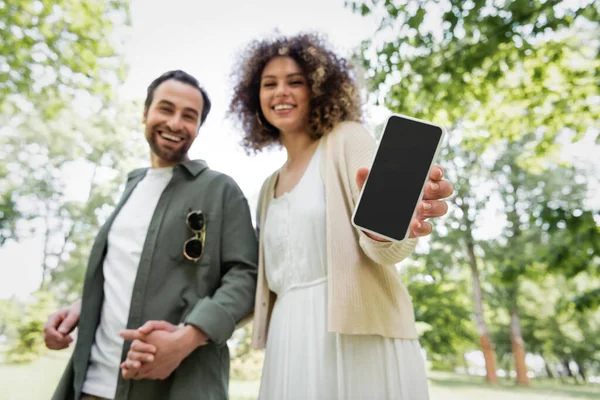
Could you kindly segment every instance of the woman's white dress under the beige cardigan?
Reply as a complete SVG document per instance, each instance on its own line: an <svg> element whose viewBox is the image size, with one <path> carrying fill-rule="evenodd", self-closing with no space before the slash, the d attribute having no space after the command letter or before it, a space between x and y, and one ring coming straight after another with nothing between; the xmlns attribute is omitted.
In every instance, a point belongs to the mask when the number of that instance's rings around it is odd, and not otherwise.
<svg viewBox="0 0 600 400"><path fill-rule="evenodd" d="M325 187L319 145L294 189L271 199L265 273L277 294L268 333L262 400L426 400L417 340L327 331Z"/></svg>

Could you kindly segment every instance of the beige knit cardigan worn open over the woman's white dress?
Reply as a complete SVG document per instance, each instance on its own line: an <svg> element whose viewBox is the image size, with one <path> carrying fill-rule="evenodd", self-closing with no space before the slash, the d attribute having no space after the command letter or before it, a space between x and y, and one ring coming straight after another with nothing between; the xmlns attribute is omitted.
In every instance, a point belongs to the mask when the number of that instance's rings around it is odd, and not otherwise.
<svg viewBox="0 0 600 400"><path fill-rule="evenodd" d="M408 291L395 264L414 250L417 239L377 242L352 226L358 199L356 172L370 167L375 139L357 122L338 124L321 140L321 173L325 182L327 237L328 330L416 339L415 317ZM264 348L276 295L265 277L263 232L279 171L262 186L257 210L260 238L258 286L252 347Z"/></svg>

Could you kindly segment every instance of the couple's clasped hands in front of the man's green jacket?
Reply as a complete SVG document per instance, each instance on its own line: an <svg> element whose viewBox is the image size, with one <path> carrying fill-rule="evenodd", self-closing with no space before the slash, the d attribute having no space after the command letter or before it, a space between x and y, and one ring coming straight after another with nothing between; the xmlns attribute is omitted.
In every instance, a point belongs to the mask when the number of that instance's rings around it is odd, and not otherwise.
<svg viewBox="0 0 600 400"><path fill-rule="evenodd" d="M121 331L131 340L127 359L121 363L124 379L166 379L208 336L188 325L178 328L166 321L148 321L135 330Z"/></svg>

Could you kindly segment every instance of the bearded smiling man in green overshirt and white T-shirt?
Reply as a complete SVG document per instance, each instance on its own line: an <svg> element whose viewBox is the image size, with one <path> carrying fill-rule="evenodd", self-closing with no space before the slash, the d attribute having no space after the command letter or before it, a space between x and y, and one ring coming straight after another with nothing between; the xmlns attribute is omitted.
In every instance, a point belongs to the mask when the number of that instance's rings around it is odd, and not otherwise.
<svg viewBox="0 0 600 400"><path fill-rule="evenodd" d="M197 80L170 71L148 87L143 122L151 168L128 176L90 253L83 296L48 318L50 349L73 356L53 399L225 399L226 345L256 290L258 245L247 201L228 176L188 150L210 111ZM125 380L130 342L148 321L155 369Z"/></svg>

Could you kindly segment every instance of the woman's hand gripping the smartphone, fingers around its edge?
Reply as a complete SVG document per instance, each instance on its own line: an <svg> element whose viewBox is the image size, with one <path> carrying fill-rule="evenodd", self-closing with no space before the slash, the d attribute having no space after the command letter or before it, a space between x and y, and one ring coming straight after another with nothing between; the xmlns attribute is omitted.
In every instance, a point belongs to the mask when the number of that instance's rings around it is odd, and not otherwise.
<svg viewBox="0 0 600 400"><path fill-rule="evenodd" d="M368 168L359 168L356 173L356 185L358 191L362 191L362 188L369 175ZM417 204L417 215L410 222L410 235L409 237L427 236L433 230L432 225L425 221L427 218L441 217L448 212L448 204L442 199L450 196L454 192L452 184L448 181L442 180L444 177L444 170L439 165L434 165L429 174L429 180L425 183L425 192L423 194L423 200ZM376 235L365 232L365 235L369 236L373 240L380 242L387 241Z"/></svg>

